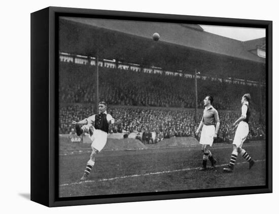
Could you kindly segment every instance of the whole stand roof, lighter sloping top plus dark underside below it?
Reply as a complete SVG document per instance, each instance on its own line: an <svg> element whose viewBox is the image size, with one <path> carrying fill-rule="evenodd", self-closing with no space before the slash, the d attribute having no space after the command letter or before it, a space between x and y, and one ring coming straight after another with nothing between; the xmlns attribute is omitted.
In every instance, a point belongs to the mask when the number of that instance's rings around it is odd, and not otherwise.
<svg viewBox="0 0 279 214"><path fill-rule="evenodd" d="M115 59L117 62L135 63L144 67L156 66L170 71L181 70L185 73L194 73L197 69L204 75L255 81L265 79L265 59L258 57L255 49L249 50L254 46L255 41L242 42L207 33L199 25L158 23L160 29L165 30L163 32L155 28L157 23L152 26L147 25L148 30L143 31L142 24L132 27L131 23L123 25L120 21L112 20L114 22L112 23L98 20L97 24L92 25L77 22L76 18L74 20L66 18L59 21L60 52L98 56L100 59ZM168 28L165 28L166 25ZM181 36L179 33L173 33L176 30L191 35L184 36L182 39L187 41L189 46L177 44L181 41L179 39ZM155 42L151 38L154 32L160 33L159 41ZM200 37L201 34L203 39ZM214 38L216 36L220 39ZM201 46L203 43L207 45ZM211 48L211 51L204 47ZM238 50L236 47L241 49ZM236 52L239 53L237 57L235 57ZM233 56L228 55L229 53ZM240 58L239 55L247 56L246 58L249 59ZM252 58L254 60L251 60Z"/></svg>

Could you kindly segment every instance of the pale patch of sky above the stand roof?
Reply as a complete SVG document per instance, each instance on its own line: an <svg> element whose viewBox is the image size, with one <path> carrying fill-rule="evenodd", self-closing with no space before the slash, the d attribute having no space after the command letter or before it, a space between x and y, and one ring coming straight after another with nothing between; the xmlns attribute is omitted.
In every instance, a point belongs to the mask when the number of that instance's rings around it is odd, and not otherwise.
<svg viewBox="0 0 279 214"><path fill-rule="evenodd" d="M240 41L247 41L247 40L265 37L264 28L227 27L227 26L213 26L213 25L200 25L200 26L206 32L214 33L228 38L233 38Z"/></svg>

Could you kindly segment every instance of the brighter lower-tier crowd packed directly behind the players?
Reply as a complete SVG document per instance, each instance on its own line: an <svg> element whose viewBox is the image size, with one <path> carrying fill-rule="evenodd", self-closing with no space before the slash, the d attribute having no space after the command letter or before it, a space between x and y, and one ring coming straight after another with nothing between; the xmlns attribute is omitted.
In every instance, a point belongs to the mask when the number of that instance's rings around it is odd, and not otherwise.
<svg viewBox="0 0 279 214"><path fill-rule="evenodd" d="M59 133L69 134L73 120L79 121L92 115L93 107L83 105L64 105L60 107ZM109 108L108 112L116 119L115 124L110 126L110 133L156 133L156 139L170 137L193 136L202 111L199 111L199 119L195 122L194 110L192 109L158 109L158 108ZM232 138L231 126L239 117L237 111L219 111L221 121L217 141L229 142ZM250 139L263 139L265 126L259 122L259 116L252 113L250 121ZM144 140L144 139L143 139ZM148 141L149 142L149 141Z"/></svg>

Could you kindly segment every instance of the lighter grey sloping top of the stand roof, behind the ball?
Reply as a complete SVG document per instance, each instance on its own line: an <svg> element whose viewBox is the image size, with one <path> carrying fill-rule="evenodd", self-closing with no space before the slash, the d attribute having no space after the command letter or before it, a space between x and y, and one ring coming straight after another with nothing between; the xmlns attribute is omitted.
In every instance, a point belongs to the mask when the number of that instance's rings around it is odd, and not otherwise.
<svg viewBox="0 0 279 214"><path fill-rule="evenodd" d="M63 19L149 39L151 39L154 32L158 32L160 34L160 41L211 52L214 54L265 63L264 58L250 52L250 50L256 49L257 46L265 45L265 37L250 41L239 41L205 32L199 25L192 24L76 17L63 17Z"/></svg>

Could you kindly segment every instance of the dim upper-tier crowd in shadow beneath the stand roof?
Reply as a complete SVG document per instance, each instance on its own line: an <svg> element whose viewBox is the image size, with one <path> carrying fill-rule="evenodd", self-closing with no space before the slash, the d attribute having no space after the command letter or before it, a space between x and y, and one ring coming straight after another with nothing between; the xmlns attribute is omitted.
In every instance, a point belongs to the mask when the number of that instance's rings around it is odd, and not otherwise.
<svg viewBox="0 0 279 214"><path fill-rule="evenodd" d="M92 103L94 67L60 63L59 98L62 103ZM100 67L99 98L109 105L160 106L194 108L194 79ZM263 87L264 90L264 87ZM233 93L232 93L233 92ZM198 79L198 108L207 94L214 97L218 110L238 109L243 94L250 93L252 108L259 109L259 90L253 85L220 82L212 78ZM262 91L262 103L265 103Z"/></svg>

